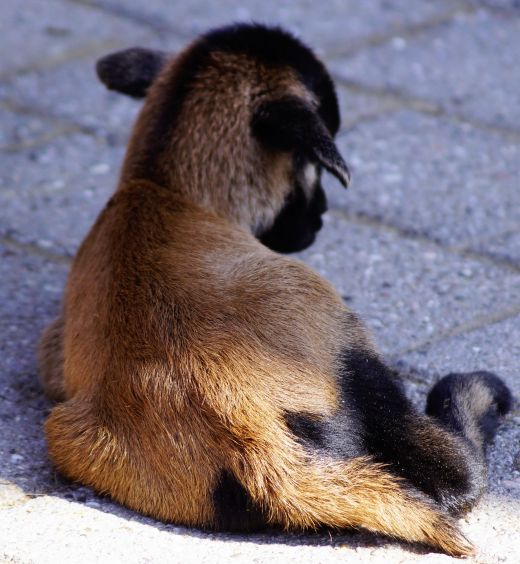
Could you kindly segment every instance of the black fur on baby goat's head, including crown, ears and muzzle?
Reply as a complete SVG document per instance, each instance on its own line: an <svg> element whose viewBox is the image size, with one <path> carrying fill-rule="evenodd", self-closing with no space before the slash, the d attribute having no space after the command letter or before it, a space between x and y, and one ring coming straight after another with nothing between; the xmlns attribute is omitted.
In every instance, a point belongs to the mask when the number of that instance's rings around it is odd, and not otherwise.
<svg viewBox="0 0 520 564"><path fill-rule="evenodd" d="M175 127L183 100L200 71L211 64L215 52L246 55L267 68L290 68L314 95L316 105L296 96L285 96L261 104L251 119L251 133L265 147L294 155L293 189L272 225L256 230L266 246L278 252L294 252L310 245L321 228L326 198L320 184L325 168L346 186L349 170L333 140L340 125L333 82L314 53L290 33L278 27L236 24L210 31L190 48L167 93L171 100L153 143L161 143ZM97 64L101 81L112 90L144 97L166 65L168 56L142 48L127 49L103 57ZM158 153L161 148L150 148ZM313 166L315 179L305 185L303 171Z"/></svg>

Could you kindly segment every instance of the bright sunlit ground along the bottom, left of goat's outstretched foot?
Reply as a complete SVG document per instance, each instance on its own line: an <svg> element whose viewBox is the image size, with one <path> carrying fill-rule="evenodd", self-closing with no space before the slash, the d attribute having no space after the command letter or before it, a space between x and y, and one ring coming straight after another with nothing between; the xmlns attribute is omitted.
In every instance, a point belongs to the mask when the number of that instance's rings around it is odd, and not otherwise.
<svg viewBox="0 0 520 564"><path fill-rule="evenodd" d="M328 564L353 556L359 561L383 564L399 562L402 550L398 545L390 545L385 548L383 559L383 554L378 555L373 546L366 546L365 537L359 534L204 534L139 516L122 519L106 505L85 506L53 497L0 511L0 526L6 554L21 556L24 562L36 559L42 564L58 561ZM64 542L57 543L56 538ZM442 562L438 556L430 554L424 558L427 562Z"/></svg>

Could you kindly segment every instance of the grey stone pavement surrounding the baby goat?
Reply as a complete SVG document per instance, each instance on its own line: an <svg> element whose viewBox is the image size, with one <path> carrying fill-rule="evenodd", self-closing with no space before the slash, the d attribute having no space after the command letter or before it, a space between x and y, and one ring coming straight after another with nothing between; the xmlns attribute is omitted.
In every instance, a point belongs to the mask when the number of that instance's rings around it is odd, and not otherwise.
<svg viewBox="0 0 520 564"><path fill-rule="evenodd" d="M0 17L0 562L448 562L363 532L205 534L137 515L57 475L35 346L70 257L114 189L139 104L96 58L175 51L231 20L282 24L325 59L354 179L300 258L329 278L419 406L449 371L520 397L520 3L4 0ZM520 561L520 410L461 521L479 563Z"/></svg>

